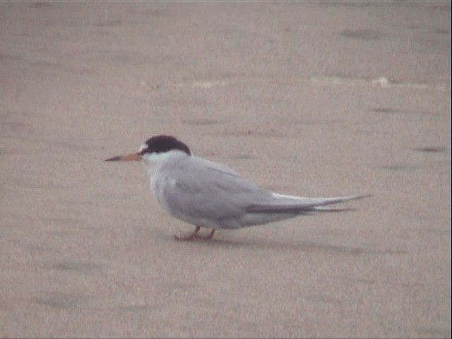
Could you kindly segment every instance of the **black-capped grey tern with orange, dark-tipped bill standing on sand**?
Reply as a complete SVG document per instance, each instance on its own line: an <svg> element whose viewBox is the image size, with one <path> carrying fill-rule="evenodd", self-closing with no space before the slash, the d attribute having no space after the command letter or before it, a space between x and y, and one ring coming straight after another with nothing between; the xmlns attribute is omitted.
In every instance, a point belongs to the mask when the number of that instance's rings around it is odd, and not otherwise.
<svg viewBox="0 0 452 339"><path fill-rule="evenodd" d="M140 161L150 177L150 189L157 202L174 218L196 228L177 240L211 239L215 230L235 230L299 215L340 212L350 208L329 205L365 198L367 195L304 198L263 189L241 177L232 168L191 153L189 146L174 136L149 138L138 152L105 160ZM210 230L207 236L198 232Z"/></svg>

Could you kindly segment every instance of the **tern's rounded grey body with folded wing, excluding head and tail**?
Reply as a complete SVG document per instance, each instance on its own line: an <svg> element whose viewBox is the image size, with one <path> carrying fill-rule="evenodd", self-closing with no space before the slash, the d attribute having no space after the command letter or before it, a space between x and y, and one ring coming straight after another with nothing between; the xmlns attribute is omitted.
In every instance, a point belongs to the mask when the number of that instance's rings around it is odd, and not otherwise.
<svg viewBox="0 0 452 339"><path fill-rule="evenodd" d="M273 198L229 167L196 157L162 168L162 173L170 183L164 189L169 212L191 223L201 220L206 225L219 225L222 220L244 215L251 203Z"/></svg>

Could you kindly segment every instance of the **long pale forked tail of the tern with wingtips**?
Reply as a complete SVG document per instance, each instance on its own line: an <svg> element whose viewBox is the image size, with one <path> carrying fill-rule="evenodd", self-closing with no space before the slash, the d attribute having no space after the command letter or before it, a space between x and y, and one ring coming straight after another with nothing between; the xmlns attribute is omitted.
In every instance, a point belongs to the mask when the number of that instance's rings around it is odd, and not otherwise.
<svg viewBox="0 0 452 339"><path fill-rule="evenodd" d="M269 203L259 203L246 208L247 212L255 213L308 213L308 212L341 212L352 208L329 208L328 205L345 203L346 201L367 198L371 194L359 196L338 196L335 198L304 198L273 193L275 198Z"/></svg>

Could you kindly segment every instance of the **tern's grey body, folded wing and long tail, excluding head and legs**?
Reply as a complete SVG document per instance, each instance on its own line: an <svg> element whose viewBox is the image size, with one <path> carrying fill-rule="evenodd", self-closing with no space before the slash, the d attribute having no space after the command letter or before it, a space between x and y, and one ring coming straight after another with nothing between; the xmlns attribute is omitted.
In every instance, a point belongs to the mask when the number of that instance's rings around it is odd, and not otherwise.
<svg viewBox="0 0 452 339"><path fill-rule="evenodd" d="M232 227L227 225L247 220L250 214L275 215L273 219L277 220L312 211L347 210L326 206L367 197L304 198L270 193L229 167L198 157L184 157L177 164L168 162L160 171L160 177L166 178L162 206L176 218L205 227ZM250 220L240 222L242 226L268 222L262 218Z"/></svg>

